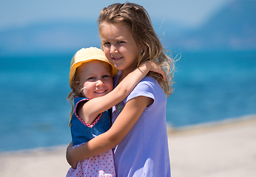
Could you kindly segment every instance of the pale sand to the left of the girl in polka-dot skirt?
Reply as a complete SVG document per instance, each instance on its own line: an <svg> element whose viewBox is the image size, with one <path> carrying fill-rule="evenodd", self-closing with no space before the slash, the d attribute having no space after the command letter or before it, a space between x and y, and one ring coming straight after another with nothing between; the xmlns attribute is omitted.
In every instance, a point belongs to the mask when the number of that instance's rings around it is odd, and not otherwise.
<svg viewBox="0 0 256 177"><path fill-rule="evenodd" d="M66 176L66 146L0 154L0 176Z"/></svg>

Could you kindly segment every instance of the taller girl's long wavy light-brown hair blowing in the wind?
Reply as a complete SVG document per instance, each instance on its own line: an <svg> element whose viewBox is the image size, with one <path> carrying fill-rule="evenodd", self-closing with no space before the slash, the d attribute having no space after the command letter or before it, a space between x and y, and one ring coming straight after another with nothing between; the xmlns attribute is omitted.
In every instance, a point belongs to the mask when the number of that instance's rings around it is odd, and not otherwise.
<svg viewBox="0 0 256 177"><path fill-rule="evenodd" d="M104 7L98 18L98 28L101 32L101 24L106 22L108 24L124 25L128 27L132 36L137 44L138 51L140 52L138 58L138 66L145 60L151 60L158 66L161 66L166 72L166 80L163 80L160 74L149 72L149 76L155 78L164 90L166 97L172 94L173 74L175 72L175 60L169 52L170 57L164 53L168 52L164 49L161 41L156 35L149 14L144 7L134 3L116 3L109 7ZM102 45L102 44L101 44ZM140 46L144 50L141 51Z"/></svg>

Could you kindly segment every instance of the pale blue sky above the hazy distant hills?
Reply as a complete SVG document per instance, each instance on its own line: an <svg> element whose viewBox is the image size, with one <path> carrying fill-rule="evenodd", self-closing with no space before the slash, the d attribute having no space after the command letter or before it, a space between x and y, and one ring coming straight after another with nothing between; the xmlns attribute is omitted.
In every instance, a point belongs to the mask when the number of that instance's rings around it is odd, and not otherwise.
<svg viewBox="0 0 256 177"><path fill-rule="evenodd" d="M175 21L197 27L231 0L138 0L152 19ZM0 0L0 30L58 20L97 20L103 7L113 0Z"/></svg>

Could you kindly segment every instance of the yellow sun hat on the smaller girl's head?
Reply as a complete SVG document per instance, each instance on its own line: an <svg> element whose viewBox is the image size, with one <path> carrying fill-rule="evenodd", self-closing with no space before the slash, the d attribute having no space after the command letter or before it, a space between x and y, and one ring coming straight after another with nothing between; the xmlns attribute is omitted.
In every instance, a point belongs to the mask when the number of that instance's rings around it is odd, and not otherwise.
<svg viewBox="0 0 256 177"><path fill-rule="evenodd" d="M101 60L110 64L112 69L112 77L118 74L118 69L115 69L115 67L112 66L112 64L110 63L109 60L107 60L104 52L101 49L98 49L92 46L86 49L82 48L75 53L70 63L70 88L71 89L72 89L72 80L78 66L81 66L81 64L87 63L91 60Z"/></svg>

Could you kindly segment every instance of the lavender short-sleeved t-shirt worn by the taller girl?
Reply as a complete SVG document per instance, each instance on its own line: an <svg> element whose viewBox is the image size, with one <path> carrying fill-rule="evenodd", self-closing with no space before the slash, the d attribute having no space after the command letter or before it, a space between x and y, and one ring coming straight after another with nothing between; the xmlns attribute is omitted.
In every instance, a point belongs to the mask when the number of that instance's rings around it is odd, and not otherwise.
<svg viewBox="0 0 256 177"><path fill-rule="evenodd" d="M114 78L118 81L120 73ZM135 86L124 102L112 108L112 121L118 117L127 101L134 97L150 97L154 103L145 108L127 136L114 148L118 177L169 177L169 148L166 133L166 97L158 82L145 77Z"/></svg>

